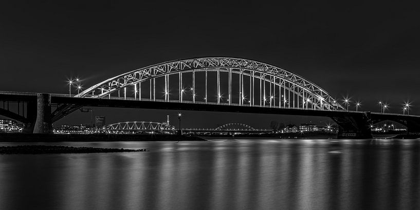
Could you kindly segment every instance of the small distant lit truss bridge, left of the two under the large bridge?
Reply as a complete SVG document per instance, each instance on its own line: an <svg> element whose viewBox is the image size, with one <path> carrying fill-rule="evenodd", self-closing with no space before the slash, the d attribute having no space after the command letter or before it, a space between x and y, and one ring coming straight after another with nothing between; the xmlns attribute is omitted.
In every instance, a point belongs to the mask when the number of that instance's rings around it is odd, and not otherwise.
<svg viewBox="0 0 420 210"><path fill-rule="evenodd" d="M120 122L105 125L100 131L173 131L175 127L155 122Z"/></svg>

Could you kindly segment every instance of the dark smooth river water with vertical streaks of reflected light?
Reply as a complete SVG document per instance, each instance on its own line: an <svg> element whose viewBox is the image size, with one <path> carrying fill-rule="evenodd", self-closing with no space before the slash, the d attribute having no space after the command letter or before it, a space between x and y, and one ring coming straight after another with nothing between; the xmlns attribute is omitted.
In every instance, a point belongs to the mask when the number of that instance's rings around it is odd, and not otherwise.
<svg viewBox="0 0 420 210"><path fill-rule="evenodd" d="M151 151L0 155L0 209L419 209L419 142L48 143Z"/></svg>

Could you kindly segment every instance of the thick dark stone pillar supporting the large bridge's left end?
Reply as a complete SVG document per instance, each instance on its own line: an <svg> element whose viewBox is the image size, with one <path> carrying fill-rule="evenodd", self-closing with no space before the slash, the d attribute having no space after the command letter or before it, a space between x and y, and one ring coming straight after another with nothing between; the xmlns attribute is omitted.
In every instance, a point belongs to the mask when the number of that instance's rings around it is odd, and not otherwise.
<svg viewBox="0 0 420 210"><path fill-rule="evenodd" d="M33 133L51 132L51 94L38 93L36 98L36 121Z"/></svg>

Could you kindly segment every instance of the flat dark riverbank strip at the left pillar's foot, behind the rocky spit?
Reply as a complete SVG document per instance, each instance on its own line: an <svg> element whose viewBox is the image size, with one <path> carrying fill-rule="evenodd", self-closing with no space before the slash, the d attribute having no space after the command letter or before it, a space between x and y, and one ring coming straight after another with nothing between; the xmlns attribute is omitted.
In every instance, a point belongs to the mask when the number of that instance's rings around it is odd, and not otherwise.
<svg viewBox="0 0 420 210"><path fill-rule="evenodd" d="M206 141L194 136L169 134L44 134L44 133L0 133L0 142L117 142L117 141Z"/></svg>

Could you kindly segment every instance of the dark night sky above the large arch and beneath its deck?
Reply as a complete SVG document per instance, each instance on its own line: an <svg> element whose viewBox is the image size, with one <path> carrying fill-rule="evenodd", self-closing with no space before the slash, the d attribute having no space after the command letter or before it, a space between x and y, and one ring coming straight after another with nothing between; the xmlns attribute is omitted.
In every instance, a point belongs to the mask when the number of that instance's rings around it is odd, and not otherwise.
<svg viewBox="0 0 420 210"><path fill-rule="evenodd" d="M140 2L140 1L139 1ZM361 110L378 100L420 114L420 20L414 5L288 1L285 4L178 1L57 4L7 1L0 9L0 90L67 93L66 78L88 87L132 69L196 56L235 56L298 73ZM116 115L117 113L117 115ZM133 114L134 113L134 114ZM108 123L164 121L176 111L96 109ZM199 121L193 117L199 116ZM303 117L185 112L190 126L244 122L267 127ZM172 118L174 120L175 116ZM312 119L325 121L325 119ZM75 112L61 123L88 123Z"/></svg>

